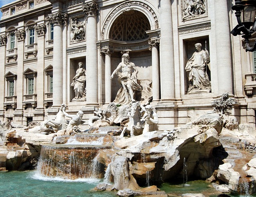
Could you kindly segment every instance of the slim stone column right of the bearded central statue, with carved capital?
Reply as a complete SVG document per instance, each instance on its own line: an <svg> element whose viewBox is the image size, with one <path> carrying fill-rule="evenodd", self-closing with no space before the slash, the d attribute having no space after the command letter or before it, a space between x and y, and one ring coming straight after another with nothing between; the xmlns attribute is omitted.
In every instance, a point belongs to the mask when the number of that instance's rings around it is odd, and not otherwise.
<svg viewBox="0 0 256 197"><path fill-rule="evenodd" d="M158 58L158 46L160 40L150 40L149 50L152 51L152 90L153 101L160 100L160 80L159 80L159 58Z"/></svg>

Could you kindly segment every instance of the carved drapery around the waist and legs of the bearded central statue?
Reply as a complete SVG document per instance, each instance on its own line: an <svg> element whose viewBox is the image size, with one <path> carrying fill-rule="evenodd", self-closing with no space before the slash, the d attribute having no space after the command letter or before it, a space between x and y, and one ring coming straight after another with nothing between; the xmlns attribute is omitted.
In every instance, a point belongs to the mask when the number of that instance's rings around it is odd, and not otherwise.
<svg viewBox="0 0 256 197"><path fill-rule="evenodd" d="M131 77L122 75L122 72L118 72L118 83L121 85L121 88L118 90L116 99L114 102L119 103L120 105L129 104L131 102L131 99L129 97L129 100L127 101L125 98L124 88L122 87L121 82L123 81L124 84L131 84L132 90L133 90L133 98L135 99L136 90L141 91L140 85L137 83L137 76L136 73L133 72Z"/></svg>

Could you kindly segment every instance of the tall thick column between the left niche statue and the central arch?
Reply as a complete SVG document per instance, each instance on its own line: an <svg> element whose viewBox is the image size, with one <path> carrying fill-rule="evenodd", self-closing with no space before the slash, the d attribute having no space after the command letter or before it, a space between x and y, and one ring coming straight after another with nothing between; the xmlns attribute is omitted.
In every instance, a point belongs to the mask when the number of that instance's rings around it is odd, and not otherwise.
<svg viewBox="0 0 256 197"><path fill-rule="evenodd" d="M86 15L86 101L98 104L98 48L97 48L97 11L98 4L86 3L82 6Z"/></svg>

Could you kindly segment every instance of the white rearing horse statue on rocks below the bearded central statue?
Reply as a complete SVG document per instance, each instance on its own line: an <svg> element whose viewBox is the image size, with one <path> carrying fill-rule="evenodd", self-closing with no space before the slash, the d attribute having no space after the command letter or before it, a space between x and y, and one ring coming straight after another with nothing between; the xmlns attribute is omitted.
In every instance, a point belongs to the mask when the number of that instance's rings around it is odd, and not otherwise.
<svg viewBox="0 0 256 197"><path fill-rule="evenodd" d="M132 101L131 109L128 113L129 122L127 127L124 127L120 138L124 137L124 133L130 134L131 137L134 135L141 135L143 131L143 125L140 120L140 102Z"/></svg>

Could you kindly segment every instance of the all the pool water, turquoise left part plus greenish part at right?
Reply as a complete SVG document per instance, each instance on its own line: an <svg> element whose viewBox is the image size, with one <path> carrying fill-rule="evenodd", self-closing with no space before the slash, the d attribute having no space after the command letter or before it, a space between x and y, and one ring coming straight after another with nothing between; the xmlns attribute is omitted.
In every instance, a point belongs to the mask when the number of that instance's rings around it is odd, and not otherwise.
<svg viewBox="0 0 256 197"><path fill-rule="evenodd" d="M36 171L0 172L0 197L116 197L115 192L92 191L100 182L99 179L50 179L38 175ZM205 181L188 181L185 186L183 183L164 183L158 187L171 197L183 193L203 193L206 197L216 197L220 194Z"/></svg>

